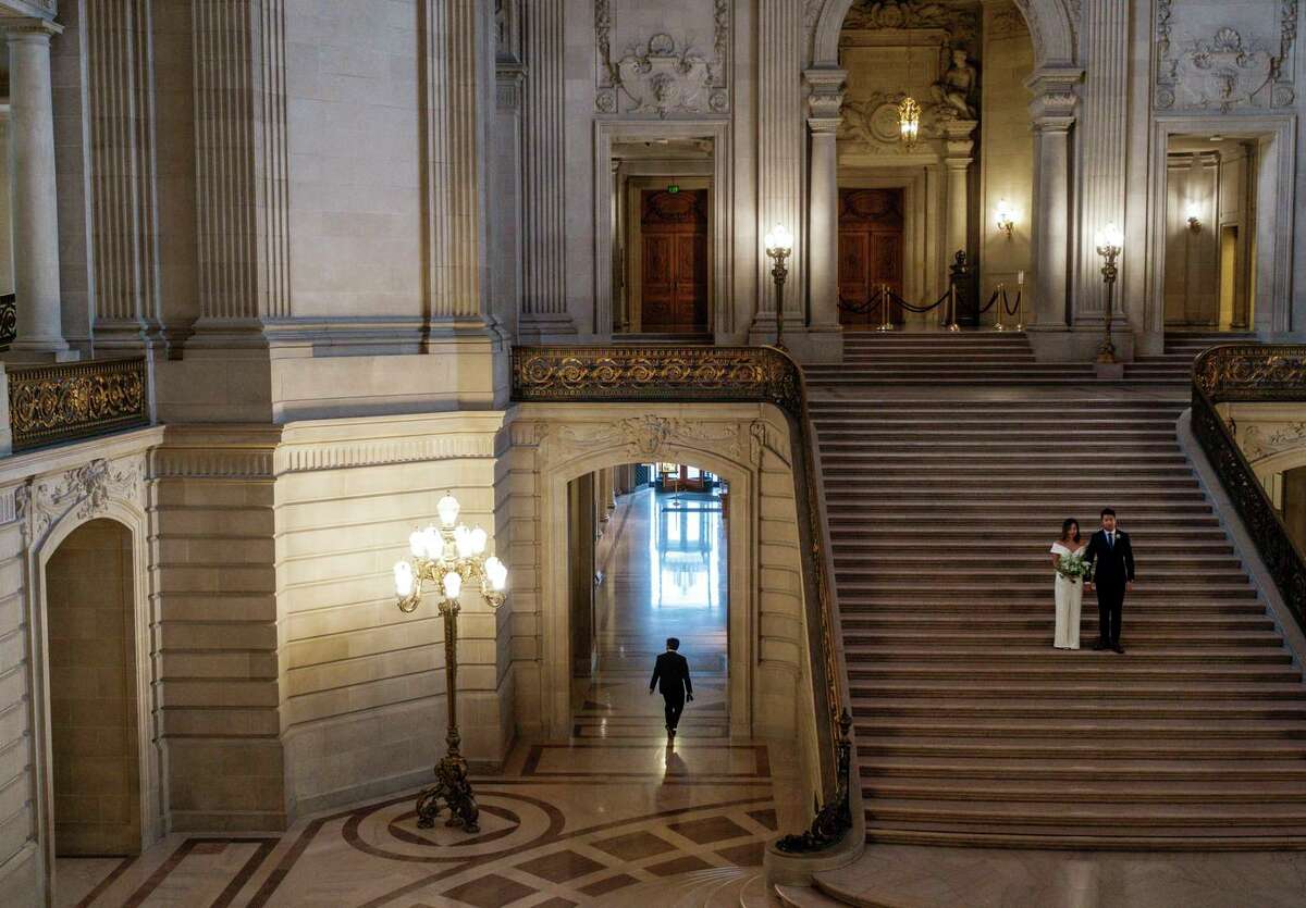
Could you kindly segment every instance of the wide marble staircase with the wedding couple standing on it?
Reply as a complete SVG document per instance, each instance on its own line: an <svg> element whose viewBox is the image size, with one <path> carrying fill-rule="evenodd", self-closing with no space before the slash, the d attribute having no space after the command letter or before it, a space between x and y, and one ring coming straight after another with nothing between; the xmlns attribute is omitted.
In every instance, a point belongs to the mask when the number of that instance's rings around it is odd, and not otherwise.
<svg viewBox="0 0 1306 908"><path fill-rule="evenodd" d="M867 838L1306 847L1306 685L1178 445L1182 390L1032 387L1021 342L899 340L956 356L929 389L808 369ZM1087 648L1092 594L1055 651L1047 549L1104 505L1139 561L1127 654Z"/></svg>

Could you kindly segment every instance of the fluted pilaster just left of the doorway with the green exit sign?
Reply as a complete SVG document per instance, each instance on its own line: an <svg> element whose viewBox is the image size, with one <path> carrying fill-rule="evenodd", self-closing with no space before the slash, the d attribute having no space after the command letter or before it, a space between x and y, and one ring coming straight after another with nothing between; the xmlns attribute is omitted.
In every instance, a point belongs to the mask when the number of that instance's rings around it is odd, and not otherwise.
<svg viewBox="0 0 1306 908"><path fill-rule="evenodd" d="M573 334L567 314L567 200L563 166L563 0L526 0L522 154L521 326L528 335Z"/></svg>

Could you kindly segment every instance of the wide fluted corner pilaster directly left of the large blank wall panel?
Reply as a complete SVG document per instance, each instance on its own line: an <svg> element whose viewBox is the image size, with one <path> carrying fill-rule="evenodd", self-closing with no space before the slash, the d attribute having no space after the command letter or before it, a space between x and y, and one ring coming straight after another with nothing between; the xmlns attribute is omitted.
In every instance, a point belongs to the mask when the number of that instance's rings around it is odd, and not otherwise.
<svg viewBox="0 0 1306 908"><path fill-rule="evenodd" d="M236 335L291 313L285 0L192 0L191 10L196 340L239 343Z"/></svg>

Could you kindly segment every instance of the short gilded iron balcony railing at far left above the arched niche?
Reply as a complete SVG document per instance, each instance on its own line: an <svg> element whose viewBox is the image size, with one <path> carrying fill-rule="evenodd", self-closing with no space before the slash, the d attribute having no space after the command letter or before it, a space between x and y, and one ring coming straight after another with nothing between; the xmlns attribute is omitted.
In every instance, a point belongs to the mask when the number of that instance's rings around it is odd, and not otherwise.
<svg viewBox="0 0 1306 908"><path fill-rule="evenodd" d="M10 365L9 428L25 451L150 421L145 357Z"/></svg>

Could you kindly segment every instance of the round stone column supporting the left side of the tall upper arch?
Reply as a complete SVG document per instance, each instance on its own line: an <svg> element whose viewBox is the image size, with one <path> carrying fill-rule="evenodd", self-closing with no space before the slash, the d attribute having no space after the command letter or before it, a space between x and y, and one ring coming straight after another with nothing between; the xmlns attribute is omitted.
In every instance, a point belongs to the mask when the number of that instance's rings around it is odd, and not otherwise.
<svg viewBox="0 0 1306 908"><path fill-rule="evenodd" d="M836 134L842 123L842 69L808 69L810 176L807 209L808 324L804 361L841 363L844 329L838 324L838 151Z"/></svg>

